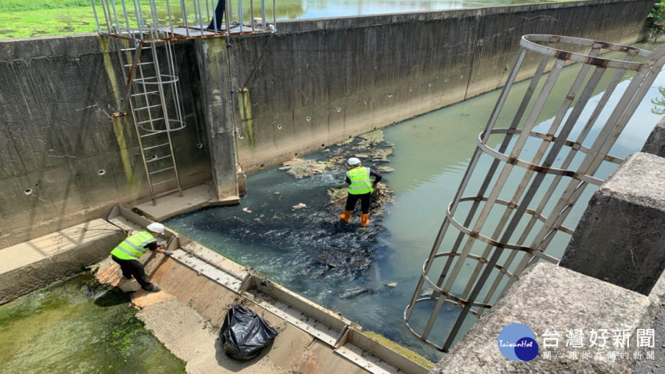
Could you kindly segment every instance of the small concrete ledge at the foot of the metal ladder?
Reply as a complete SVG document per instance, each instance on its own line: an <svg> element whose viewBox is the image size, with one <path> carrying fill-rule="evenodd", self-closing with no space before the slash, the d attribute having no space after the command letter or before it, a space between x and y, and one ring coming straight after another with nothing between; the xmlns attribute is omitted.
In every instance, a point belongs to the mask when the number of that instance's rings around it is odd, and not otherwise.
<svg viewBox="0 0 665 374"><path fill-rule="evenodd" d="M240 204L240 197L227 196L219 199L219 195L211 182L187 188L178 194L168 195L157 199L157 205L152 200L136 205L136 208L153 221L161 222L170 217L197 211L206 206L223 206Z"/></svg>

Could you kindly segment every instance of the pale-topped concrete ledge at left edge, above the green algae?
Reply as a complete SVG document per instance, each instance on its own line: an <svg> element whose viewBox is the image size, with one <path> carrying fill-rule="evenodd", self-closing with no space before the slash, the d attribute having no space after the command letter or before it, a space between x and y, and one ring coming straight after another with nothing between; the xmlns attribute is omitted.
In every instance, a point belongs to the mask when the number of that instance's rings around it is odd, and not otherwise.
<svg viewBox="0 0 665 374"><path fill-rule="evenodd" d="M0 304L98 262L125 238L105 220L62 229L0 251Z"/></svg>

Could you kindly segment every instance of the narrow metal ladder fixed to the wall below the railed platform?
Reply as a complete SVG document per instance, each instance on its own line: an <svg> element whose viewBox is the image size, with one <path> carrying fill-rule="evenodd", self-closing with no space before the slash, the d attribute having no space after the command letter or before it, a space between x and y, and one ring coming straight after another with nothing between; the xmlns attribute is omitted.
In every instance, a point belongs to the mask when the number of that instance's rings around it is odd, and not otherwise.
<svg viewBox="0 0 665 374"><path fill-rule="evenodd" d="M185 127L173 46L159 40L125 39L122 43L125 100L139 139L152 204L157 205L159 197L176 192L182 196L171 139L171 132ZM166 72L160 70L160 60L166 60Z"/></svg>

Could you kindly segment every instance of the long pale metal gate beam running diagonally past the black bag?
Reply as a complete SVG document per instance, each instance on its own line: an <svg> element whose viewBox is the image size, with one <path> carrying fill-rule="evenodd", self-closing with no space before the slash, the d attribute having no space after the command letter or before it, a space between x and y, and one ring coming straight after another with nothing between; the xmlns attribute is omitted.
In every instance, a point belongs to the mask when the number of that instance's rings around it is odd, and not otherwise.
<svg viewBox="0 0 665 374"><path fill-rule="evenodd" d="M150 221L123 207L116 207L109 222L123 229L140 229ZM169 231L167 247L173 252L169 260L195 271L197 276L224 286L238 296L237 303L250 302L279 319L323 342L335 355L371 373L427 373L428 369L384 346L362 333L362 327L341 314L308 301L302 296L273 283L254 269L239 265L207 249L184 235ZM163 265L159 265L163 266ZM159 274L159 268L152 274ZM168 285L163 287L171 290ZM239 301L238 301L239 300ZM190 304L195 304L190 301ZM280 339L279 335L276 341Z"/></svg>

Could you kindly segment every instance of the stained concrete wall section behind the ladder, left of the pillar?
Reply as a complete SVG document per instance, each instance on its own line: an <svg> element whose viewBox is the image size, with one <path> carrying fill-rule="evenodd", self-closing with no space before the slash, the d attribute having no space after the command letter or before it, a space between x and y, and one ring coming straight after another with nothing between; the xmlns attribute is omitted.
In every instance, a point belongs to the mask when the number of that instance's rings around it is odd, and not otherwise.
<svg viewBox="0 0 665 374"><path fill-rule="evenodd" d="M96 35L0 41L0 248L149 196L134 126L114 128L110 118L125 92L107 43ZM190 94L175 155L193 186L210 179L209 157L196 146L206 136L193 44L177 53Z"/></svg>

